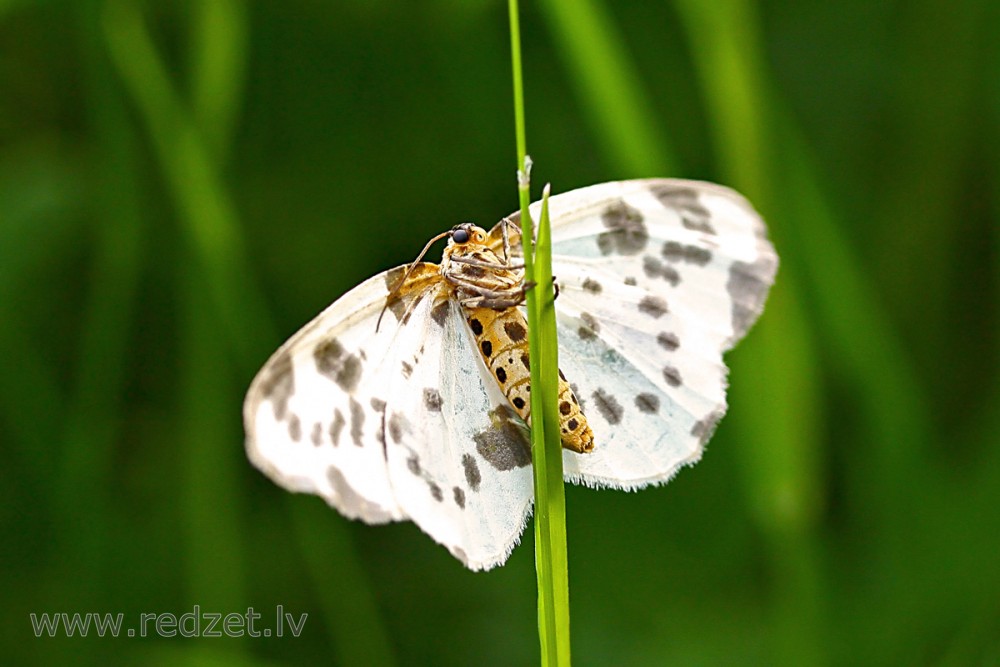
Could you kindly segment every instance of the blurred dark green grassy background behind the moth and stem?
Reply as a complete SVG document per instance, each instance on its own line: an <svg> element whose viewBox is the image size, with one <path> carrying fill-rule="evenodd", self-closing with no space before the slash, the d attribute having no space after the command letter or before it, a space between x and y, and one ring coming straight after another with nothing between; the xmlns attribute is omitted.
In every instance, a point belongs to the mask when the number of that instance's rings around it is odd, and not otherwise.
<svg viewBox="0 0 1000 667"><path fill-rule="evenodd" d="M734 186L782 257L666 487L567 491L578 665L1000 664L1000 3L539 0L538 186ZM538 660L465 571L243 453L277 345L516 208L506 3L0 1L5 664ZM293 638L29 614L308 613ZM260 627L260 626L258 626Z"/></svg>

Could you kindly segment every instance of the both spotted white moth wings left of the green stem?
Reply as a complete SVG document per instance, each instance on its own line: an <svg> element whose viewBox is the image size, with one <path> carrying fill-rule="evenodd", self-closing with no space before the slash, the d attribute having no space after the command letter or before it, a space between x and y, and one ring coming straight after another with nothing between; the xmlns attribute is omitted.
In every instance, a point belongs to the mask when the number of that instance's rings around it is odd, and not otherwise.
<svg viewBox="0 0 1000 667"><path fill-rule="evenodd" d="M244 405L247 453L275 482L368 523L412 519L473 569L503 562L531 502L527 438L420 265L354 288L267 362Z"/></svg>

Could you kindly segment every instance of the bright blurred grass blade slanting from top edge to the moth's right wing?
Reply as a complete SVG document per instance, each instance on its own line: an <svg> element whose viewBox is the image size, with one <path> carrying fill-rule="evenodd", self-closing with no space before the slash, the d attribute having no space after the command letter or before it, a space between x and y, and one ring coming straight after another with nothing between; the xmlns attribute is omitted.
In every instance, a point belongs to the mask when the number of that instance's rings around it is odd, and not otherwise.
<svg viewBox="0 0 1000 667"><path fill-rule="evenodd" d="M562 51L583 112L619 178L678 171L625 38L600 0L543 0L543 15Z"/></svg>

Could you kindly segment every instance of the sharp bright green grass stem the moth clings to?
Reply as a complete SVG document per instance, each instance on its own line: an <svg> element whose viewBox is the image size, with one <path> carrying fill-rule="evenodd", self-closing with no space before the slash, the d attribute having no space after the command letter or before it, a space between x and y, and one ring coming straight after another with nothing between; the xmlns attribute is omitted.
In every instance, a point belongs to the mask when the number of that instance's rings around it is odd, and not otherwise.
<svg viewBox="0 0 1000 667"><path fill-rule="evenodd" d="M524 92L521 77L521 32L517 0L509 0L511 66L514 76L514 123L517 135L518 198L521 238L524 239L528 292L528 354L532 360L531 452L535 484L535 569L538 577L538 639L542 665L569 665L569 571L566 548L566 497L563 488L562 444L557 413L558 348L555 295L552 289L552 250L549 237L548 187L542 199L538 241L530 247L533 224L528 210L531 190L524 130Z"/></svg>

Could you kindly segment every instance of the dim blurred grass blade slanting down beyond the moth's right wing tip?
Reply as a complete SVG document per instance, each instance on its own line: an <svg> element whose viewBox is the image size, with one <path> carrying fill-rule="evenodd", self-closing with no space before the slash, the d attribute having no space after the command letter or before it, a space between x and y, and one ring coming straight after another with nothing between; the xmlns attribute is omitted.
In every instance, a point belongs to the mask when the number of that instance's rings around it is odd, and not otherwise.
<svg viewBox="0 0 1000 667"><path fill-rule="evenodd" d="M929 454L930 411L913 363L869 287L872 281L840 232L844 226L826 200L805 141L790 122L782 127L789 215L809 221L789 227L789 241L800 248L802 275L823 322L820 331L858 392L872 434L878 463L869 469L878 479L865 485L874 494L866 511L885 511L888 523L895 524L890 517L905 511L911 485L921 475L918 462Z"/></svg>

